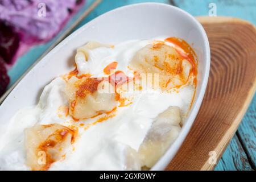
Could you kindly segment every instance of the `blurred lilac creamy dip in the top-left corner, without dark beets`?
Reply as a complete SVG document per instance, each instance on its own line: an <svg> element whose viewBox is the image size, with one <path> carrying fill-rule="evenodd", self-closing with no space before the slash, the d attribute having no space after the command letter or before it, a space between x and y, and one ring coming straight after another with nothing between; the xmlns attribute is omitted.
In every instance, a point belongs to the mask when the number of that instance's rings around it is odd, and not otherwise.
<svg viewBox="0 0 256 182"><path fill-rule="evenodd" d="M51 39L83 1L0 0L0 19L22 31L23 42ZM32 38L32 41L31 41ZM34 40L35 39L35 40Z"/></svg>

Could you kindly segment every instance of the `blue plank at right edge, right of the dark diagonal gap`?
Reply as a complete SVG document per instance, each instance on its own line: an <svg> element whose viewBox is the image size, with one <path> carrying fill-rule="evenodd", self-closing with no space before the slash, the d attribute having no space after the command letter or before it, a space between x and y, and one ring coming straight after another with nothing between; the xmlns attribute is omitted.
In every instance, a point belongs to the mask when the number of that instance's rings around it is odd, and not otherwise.
<svg viewBox="0 0 256 182"><path fill-rule="evenodd" d="M238 128L238 137L245 148L251 165L256 169L256 95Z"/></svg>

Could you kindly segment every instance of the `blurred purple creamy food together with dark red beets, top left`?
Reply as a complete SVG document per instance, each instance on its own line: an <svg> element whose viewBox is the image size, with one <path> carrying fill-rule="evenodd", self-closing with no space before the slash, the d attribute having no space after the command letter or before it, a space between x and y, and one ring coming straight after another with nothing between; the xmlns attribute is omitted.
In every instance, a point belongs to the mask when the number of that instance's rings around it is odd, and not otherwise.
<svg viewBox="0 0 256 182"><path fill-rule="evenodd" d="M0 60L8 67L63 28L85 0L0 0Z"/></svg>

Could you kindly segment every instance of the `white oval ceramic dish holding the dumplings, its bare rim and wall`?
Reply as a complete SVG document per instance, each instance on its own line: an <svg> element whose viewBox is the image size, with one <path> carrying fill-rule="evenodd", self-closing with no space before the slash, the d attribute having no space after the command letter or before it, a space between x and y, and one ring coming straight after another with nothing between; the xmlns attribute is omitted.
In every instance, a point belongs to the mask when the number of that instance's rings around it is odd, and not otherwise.
<svg viewBox="0 0 256 182"><path fill-rule="evenodd" d="M140 3L112 10L86 23L48 53L13 89L0 106L0 132L10 118L38 102L42 89L53 78L71 71L76 48L89 40L116 44L130 39L176 36L193 43L198 56L195 102L179 137L152 169L162 170L176 154L188 134L204 97L210 68L210 49L204 28L193 16L161 3Z"/></svg>

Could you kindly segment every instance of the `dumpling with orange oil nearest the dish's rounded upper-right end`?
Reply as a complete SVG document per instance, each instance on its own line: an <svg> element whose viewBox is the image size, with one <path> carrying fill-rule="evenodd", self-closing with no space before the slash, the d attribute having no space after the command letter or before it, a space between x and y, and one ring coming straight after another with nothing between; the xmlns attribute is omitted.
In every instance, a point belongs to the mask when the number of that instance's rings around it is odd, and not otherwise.
<svg viewBox="0 0 256 182"><path fill-rule="evenodd" d="M188 60L166 44L148 44L135 54L129 66L139 73L158 74L163 90L185 84L192 69Z"/></svg>

